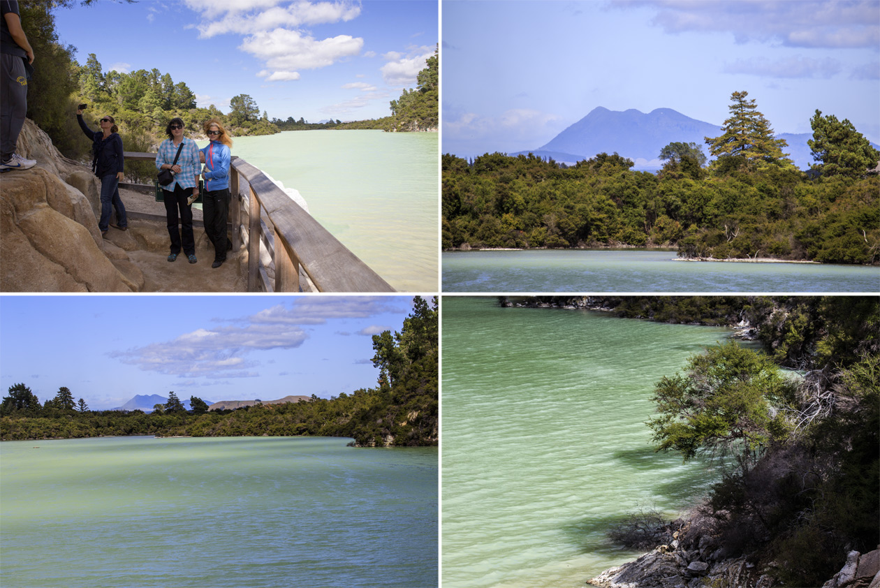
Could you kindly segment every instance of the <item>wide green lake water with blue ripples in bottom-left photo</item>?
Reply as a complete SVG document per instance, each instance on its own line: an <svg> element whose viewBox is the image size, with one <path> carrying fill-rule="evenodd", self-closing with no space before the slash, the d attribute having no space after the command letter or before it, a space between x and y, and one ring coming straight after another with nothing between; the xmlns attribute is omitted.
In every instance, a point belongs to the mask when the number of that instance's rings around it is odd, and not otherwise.
<svg viewBox="0 0 880 588"><path fill-rule="evenodd" d="M347 441L4 442L2 585L436 586L436 448Z"/></svg>

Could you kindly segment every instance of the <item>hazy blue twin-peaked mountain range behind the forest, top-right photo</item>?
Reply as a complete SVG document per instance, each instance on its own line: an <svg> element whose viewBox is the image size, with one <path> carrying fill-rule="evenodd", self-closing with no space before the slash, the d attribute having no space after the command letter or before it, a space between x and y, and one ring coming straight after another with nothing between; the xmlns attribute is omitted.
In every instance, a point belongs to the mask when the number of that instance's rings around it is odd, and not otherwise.
<svg viewBox="0 0 880 588"><path fill-rule="evenodd" d="M542 158L554 158L560 163L574 164L594 158L598 153L610 155L617 152L632 159L634 169L656 171L663 166L658 158L660 150L669 143L697 143L708 157L705 137L720 135L720 124L697 121L671 108L657 108L644 114L634 108L620 112L597 107L539 149L509 155L533 153ZM788 148L783 151L798 168L810 168L814 163L807 144L812 138L811 133L782 133L777 137L786 140ZM880 145L871 144L880 149Z"/></svg>

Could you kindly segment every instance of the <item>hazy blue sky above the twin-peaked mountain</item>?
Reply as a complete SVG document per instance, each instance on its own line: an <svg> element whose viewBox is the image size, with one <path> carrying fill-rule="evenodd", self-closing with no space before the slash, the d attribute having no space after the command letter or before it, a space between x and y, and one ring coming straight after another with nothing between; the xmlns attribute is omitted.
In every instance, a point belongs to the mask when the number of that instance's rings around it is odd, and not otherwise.
<svg viewBox="0 0 880 588"><path fill-rule="evenodd" d="M443 152L537 149L595 107L721 125L749 92L777 133L849 119L880 143L880 2L444 0Z"/></svg>

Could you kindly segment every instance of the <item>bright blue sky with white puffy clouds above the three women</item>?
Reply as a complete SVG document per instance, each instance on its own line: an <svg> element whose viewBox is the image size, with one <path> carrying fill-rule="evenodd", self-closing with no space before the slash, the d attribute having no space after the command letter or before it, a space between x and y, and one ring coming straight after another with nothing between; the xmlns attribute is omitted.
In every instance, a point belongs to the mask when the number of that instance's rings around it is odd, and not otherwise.
<svg viewBox="0 0 880 588"><path fill-rule="evenodd" d="M77 3L78 4L78 3ZM378 118L434 54L436 0L98 0L55 11L64 44L105 72L158 69L200 107L248 94L269 118Z"/></svg>

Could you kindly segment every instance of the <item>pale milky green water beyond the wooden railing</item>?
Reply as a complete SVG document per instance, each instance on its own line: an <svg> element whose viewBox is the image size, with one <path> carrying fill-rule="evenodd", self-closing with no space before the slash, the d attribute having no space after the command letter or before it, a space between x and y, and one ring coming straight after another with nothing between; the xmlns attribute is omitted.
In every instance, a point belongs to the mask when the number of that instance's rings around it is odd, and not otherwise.
<svg viewBox="0 0 880 588"><path fill-rule="evenodd" d="M312 216L395 289L437 290L436 133L287 131L233 142L232 155L296 189Z"/></svg>

